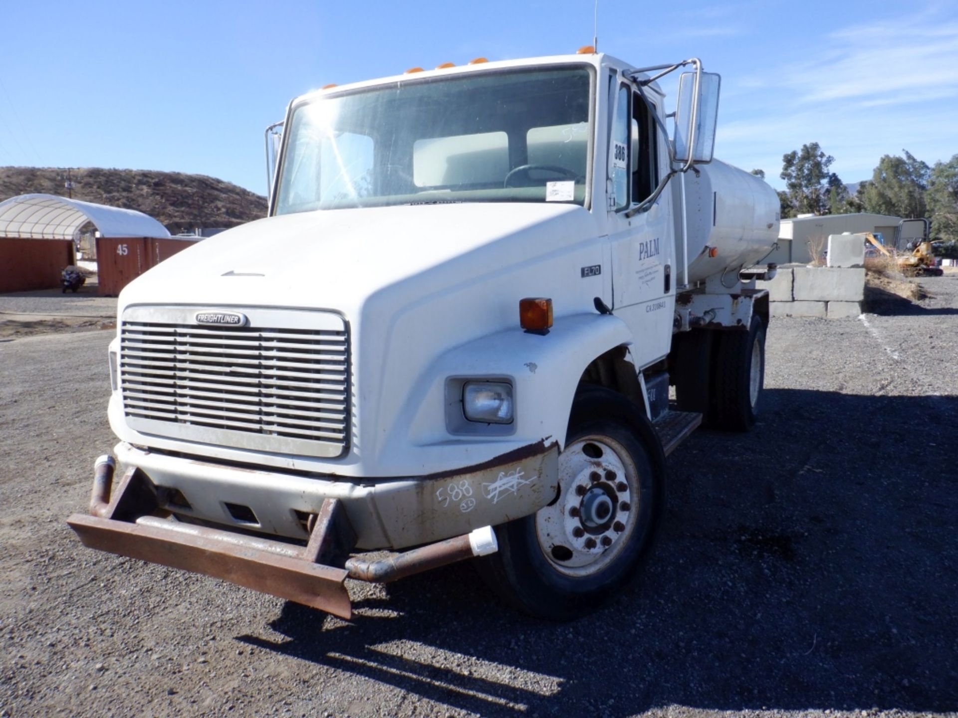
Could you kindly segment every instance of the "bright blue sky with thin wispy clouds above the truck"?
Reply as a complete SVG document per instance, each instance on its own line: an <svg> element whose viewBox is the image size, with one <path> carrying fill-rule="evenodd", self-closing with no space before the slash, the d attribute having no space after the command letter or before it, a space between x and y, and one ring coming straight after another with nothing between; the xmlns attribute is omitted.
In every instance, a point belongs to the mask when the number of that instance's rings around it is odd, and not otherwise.
<svg viewBox="0 0 958 718"><path fill-rule="evenodd" d="M199 172L263 192L294 96L408 67L574 51L592 0L0 0L0 165ZM599 0L600 49L722 75L716 154L778 179L817 141L846 182L958 153L958 3ZM670 90L671 92L671 90Z"/></svg>

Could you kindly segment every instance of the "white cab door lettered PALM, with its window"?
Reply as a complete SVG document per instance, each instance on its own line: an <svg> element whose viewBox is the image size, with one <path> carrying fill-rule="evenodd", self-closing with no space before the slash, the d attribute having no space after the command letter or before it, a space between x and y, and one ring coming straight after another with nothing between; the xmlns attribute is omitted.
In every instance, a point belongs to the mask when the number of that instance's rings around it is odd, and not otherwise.
<svg viewBox="0 0 958 718"><path fill-rule="evenodd" d="M611 308L632 330L633 359L637 366L645 367L668 354L672 344L675 245L671 193L662 192L647 212L629 212L650 196L666 168L658 153L660 138L650 107L630 82L613 76L609 111L606 187Z"/></svg>

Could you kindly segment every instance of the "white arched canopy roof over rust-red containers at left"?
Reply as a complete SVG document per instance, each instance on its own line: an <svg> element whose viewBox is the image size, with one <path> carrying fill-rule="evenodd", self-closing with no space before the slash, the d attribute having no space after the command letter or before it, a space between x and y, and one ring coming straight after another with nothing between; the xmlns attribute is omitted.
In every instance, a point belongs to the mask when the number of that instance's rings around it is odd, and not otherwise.
<svg viewBox="0 0 958 718"><path fill-rule="evenodd" d="M148 214L54 194L21 194L0 202L0 237L74 239L87 222L100 236L170 236Z"/></svg>

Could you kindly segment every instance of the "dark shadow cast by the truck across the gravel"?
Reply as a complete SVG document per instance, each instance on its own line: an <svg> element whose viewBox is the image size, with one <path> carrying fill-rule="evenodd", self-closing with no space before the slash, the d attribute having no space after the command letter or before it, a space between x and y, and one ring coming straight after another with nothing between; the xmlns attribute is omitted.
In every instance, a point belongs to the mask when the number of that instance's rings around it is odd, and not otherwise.
<svg viewBox="0 0 958 718"><path fill-rule="evenodd" d="M522 617L459 565L239 640L483 715L958 709L958 397L764 402L673 455L650 565L590 617Z"/></svg>

